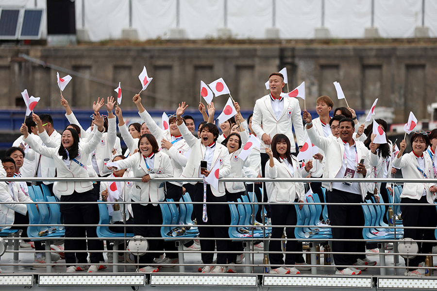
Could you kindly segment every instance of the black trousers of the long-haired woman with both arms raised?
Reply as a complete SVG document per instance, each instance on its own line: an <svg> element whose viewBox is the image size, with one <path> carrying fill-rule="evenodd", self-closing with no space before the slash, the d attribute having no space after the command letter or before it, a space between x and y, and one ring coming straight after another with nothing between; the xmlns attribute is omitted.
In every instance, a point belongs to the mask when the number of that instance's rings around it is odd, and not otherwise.
<svg viewBox="0 0 437 291"><path fill-rule="evenodd" d="M73 192L71 195L61 196L61 213L64 215L65 226L65 250L76 251L75 253L66 252L65 262L67 267L76 264L76 258L79 264L87 263L86 244L84 240L69 240L68 238L97 238L97 226L81 226L84 224L97 225L99 223L99 207L94 202L95 196L93 191L84 193ZM84 202L83 204L62 204L62 202ZM75 225L75 226L68 226ZM88 240L88 251L90 252L91 263L99 263L101 252L103 251L103 241Z"/></svg>

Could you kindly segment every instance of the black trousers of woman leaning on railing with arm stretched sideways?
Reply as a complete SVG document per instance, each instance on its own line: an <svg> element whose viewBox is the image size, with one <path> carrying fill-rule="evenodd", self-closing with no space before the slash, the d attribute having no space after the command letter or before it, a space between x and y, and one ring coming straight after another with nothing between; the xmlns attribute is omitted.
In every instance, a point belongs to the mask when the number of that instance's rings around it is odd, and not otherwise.
<svg viewBox="0 0 437 291"><path fill-rule="evenodd" d="M149 238L149 251L157 251L161 240L153 238L161 237L161 226L137 226L137 225L162 225L162 212L159 205L153 206L149 203L146 206L132 203L134 212L134 235L140 235ZM153 263L155 254L147 252L144 256L139 257L140 268Z"/></svg>

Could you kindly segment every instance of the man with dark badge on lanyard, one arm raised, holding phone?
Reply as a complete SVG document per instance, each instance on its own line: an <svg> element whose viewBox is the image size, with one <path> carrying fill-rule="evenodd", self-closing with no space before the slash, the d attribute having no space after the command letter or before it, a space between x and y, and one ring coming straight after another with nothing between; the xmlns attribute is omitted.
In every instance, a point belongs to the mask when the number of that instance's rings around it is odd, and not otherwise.
<svg viewBox="0 0 437 291"><path fill-rule="evenodd" d="M344 178L344 182L331 182L329 184L329 202L338 203L330 205L330 221L332 226L359 226L362 212L360 203L367 194L365 183L351 183L347 178L364 178L370 171L369 150L362 142L353 140L354 123L350 118L343 118L339 122L340 136L337 139L320 136L313 127L311 114L303 111L303 119L311 142L325 153L327 176L325 178ZM345 205L354 203L356 205ZM332 229L333 239L360 239L361 229L341 227ZM357 250L356 242L333 241L334 252L353 253ZM353 265L356 255L334 255L336 265ZM358 275L352 267L337 267L337 275Z"/></svg>

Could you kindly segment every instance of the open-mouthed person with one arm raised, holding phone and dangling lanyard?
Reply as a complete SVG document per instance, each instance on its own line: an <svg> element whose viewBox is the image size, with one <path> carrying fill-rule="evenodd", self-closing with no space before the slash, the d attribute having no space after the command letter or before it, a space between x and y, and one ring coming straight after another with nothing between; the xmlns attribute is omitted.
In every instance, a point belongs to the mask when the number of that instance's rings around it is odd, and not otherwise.
<svg viewBox="0 0 437 291"><path fill-rule="evenodd" d="M203 178L209 176L211 170L218 163L218 178L223 178L231 173L231 165L229 163L228 149L217 143L218 128L212 123L206 123L202 126L201 138L197 139L187 129L182 120L182 115L185 112L185 102L179 104L176 111L176 120L178 128L182 133L186 143L191 148L191 154L186 163L185 169L181 177L184 178ZM206 162L206 170L201 170L201 161ZM224 183L218 181L218 189L211 187L211 185L197 182L194 183L194 202L226 202L226 193ZM194 205L194 212L198 225L225 225L226 223L226 209L225 204L208 204L204 207L202 204ZM203 212L205 215L203 215ZM217 266L212 265L215 249L214 240L200 240L202 251L211 251L211 253L202 253L202 261L205 266L202 273L224 273L228 249L228 242L221 240L228 238L227 227L199 227L199 235L201 238L215 238L217 239ZM214 269L214 270L213 270ZM217 270L216 270L217 269Z"/></svg>

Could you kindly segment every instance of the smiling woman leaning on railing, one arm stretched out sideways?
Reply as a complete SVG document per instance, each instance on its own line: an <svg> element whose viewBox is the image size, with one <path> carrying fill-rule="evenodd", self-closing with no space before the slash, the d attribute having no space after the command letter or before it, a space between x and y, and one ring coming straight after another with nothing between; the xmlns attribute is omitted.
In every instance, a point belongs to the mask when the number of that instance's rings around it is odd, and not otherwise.
<svg viewBox="0 0 437 291"><path fill-rule="evenodd" d="M155 182L153 178L173 177L173 169L168 155L158 152L158 143L151 134L144 134L138 141L138 151L124 160L118 160L111 164L112 169L128 169L133 177L142 178L141 182L134 182L131 198L134 202L134 234L145 238L151 238L149 251L158 250L160 240L153 238L161 237L159 226L137 226L137 225L160 225L162 224L162 213L158 202L164 201L164 183ZM155 273L158 268L153 264L154 253L146 253L139 258L139 273Z"/></svg>

